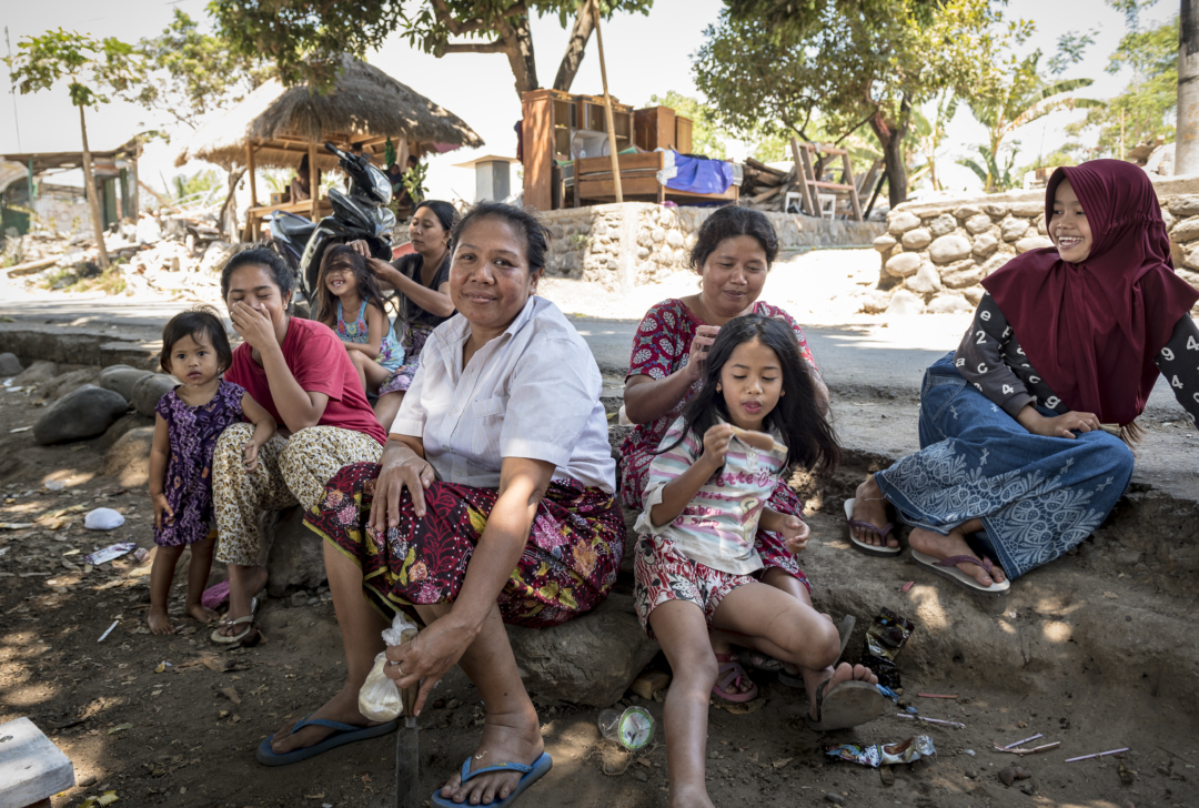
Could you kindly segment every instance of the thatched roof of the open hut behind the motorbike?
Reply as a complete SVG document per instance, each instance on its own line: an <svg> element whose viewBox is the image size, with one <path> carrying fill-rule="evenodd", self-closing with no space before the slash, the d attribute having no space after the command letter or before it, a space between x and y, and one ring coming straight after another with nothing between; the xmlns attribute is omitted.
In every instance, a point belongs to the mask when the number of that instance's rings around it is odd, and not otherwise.
<svg viewBox="0 0 1199 808"><path fill-rule="evenodd" d="M180 150L175 165L191 159L225 169L246 165L253 150L257 167L296 168L311 144L332 140L361 145L381 153L382 143L483 145L460 117L400 84L376 67L345 56L332 92L319 95L306 86L284 88L271 79L224 115L209 121ZM414 149L415 150L415 149ZM337 158L324 150L317 167L331 169Z"/></svg>

